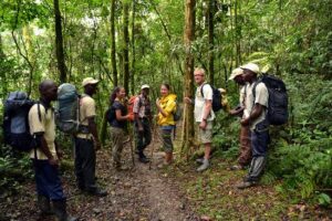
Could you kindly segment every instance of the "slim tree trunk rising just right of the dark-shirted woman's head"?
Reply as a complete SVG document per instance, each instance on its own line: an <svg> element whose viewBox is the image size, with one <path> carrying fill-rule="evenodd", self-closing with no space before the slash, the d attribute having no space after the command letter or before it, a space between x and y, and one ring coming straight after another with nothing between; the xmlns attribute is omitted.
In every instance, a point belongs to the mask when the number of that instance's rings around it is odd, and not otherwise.
<svg viewBox="0 0 332 221"><path fill-rule="evenodd" d="M124 40L124 45L123 45L123 86L126 92L128 92L129 87L129 53L128 53L128 48L129 48L129 33L128 33L128 23L129 23L129 6L124 0L123 2L123 40Z"/></svg>

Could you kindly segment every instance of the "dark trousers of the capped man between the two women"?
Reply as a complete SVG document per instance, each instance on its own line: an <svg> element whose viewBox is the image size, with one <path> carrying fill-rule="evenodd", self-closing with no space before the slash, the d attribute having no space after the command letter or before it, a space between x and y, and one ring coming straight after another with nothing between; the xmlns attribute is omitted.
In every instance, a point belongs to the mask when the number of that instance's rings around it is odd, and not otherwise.
<svg viewBox="0 0 332 221"><path fill-rule="evenodd" d="M151 144L152 133L151 125L147 118L138 119L142 123L143 131L138 131L138 124L135 123L135 141L136 148L138 152L143 152L143 150Z"/></svg>

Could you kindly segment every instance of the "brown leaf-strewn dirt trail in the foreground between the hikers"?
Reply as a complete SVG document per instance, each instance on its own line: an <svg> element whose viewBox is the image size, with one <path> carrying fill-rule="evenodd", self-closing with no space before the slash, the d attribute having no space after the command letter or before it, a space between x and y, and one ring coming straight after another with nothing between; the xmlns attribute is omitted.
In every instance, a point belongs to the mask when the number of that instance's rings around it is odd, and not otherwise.
<svg viewBox="0 0 332 221"><path fill-rule="evenodd" d="M158 141L153 144L155 152L152 169L148 164L138 162L137 156L135 167L132 166L128 145L123 152L124 167L127 170L113 169L110 149L97 152L97 182L108 191L105 198L80 192L75 187L73 171L65 172L62 178L69 197L69 211L80 217L80 220L86 221L198 220L186 198L179 192L178 183L169 178L166 170L157 167L163 162L163 152L156 150ZM146 152L151 155L151 149ZM7 202L0 203L0 211L4 212L3 220L54 220L52 217L39 218L34 191L34 183L31 182L24 186L20 193L8 197Z"/></svg>

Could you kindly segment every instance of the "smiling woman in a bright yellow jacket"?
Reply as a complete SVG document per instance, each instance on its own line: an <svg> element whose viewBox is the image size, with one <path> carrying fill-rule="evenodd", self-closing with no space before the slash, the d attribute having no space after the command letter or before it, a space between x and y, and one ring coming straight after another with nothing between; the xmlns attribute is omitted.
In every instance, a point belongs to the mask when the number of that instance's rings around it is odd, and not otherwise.
<svg viewBox="0 0 332 221"><path fill-rule="evenodd" d="M175 127L174 113L176 110L176 95L169 93L168 84L162 84L160 95L162 98L156 101L158 109L157 124L160 127L163 148L165 151L165 165L169 165L173 160L172 131Z"/></svg>

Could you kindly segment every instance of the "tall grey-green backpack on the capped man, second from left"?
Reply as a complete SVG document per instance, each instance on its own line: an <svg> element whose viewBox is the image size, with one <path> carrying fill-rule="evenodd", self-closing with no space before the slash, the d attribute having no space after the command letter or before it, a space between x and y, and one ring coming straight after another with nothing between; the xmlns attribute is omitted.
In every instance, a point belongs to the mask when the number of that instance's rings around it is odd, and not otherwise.
<svg viewBox="0 0 332 221"><path fill-rule="evenodd" d="M59 86L55 123L65 134L76 134L80 129L80 98L74 85L63 83Z"/></svg>

